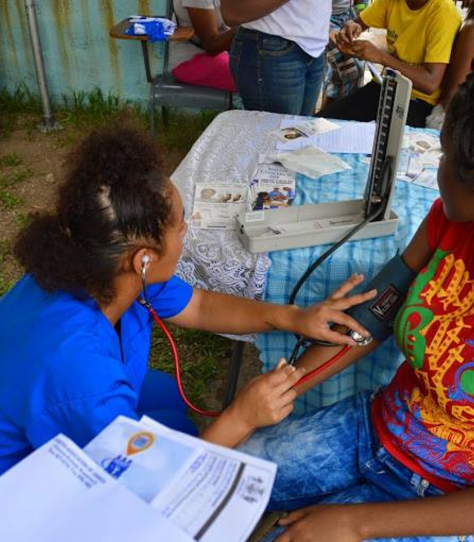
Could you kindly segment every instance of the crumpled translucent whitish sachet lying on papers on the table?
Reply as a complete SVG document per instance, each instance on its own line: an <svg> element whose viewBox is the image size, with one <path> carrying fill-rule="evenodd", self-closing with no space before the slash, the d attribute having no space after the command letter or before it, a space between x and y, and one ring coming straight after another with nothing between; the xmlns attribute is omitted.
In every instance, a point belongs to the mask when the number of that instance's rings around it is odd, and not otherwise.
<svg viewBox="0 0 474 542"><path fill-rule="evenodd" d="M289 170L312 179L351 169L347 162L312 145L296 151L271 154L270 158Z"/></svg>

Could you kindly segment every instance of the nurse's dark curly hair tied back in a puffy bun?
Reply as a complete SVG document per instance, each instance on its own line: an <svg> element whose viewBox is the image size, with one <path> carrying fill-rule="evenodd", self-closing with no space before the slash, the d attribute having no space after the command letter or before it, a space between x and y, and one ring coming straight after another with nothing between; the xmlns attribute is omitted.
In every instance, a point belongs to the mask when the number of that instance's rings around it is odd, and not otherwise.
<svg viewBox="0 0 474 542"><path fill-rule="evenodd" d="M126 251L161 250L170 193L151 137L129 127L94 131L69 156L55 212L34 217L15 255L44 290L86 291L108 304Z"/></svg>

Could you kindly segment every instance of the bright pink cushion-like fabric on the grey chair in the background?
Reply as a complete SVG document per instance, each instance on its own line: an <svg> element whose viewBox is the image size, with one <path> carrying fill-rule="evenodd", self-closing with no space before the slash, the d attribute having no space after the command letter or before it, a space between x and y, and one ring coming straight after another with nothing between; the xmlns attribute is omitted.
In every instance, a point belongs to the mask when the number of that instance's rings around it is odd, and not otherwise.
<svg viewBox="0 0 474 542"><path fill-rule="evenodd" d="M229 53L227 51L215 56L198 53L192 59L181 62L171 73L181 83L237 92L230 73Z"/></svg>

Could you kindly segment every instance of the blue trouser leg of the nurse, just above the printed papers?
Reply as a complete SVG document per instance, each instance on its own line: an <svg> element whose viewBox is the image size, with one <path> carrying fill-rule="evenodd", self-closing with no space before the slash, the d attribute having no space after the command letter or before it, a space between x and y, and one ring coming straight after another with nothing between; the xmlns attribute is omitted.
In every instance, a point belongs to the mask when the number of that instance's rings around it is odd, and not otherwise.
<svg viewBox="0 0 474 542"><path fill-rule="evenodd" d="M149 370L141 386L137 412L166 427L197 435L196 425L187 417L186 405L179 395L176 380L161 371Z"/></svg>

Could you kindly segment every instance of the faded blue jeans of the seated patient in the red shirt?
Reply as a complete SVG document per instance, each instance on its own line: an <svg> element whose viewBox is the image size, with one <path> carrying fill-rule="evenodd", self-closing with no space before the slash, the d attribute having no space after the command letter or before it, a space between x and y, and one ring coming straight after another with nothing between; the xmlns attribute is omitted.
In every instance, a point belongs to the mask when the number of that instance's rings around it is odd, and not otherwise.
<svg viewBox="0 0 474 542"><path fill-rule="evenodd" d="M315 504L387 502L443 495L380 446L371 421L372 392L362 392L314 414L291 416L263 428L239 447L278 465L270 509ZM265 539L283 532L278 527ZM473 536L410 537L404 542L458 542Z"/></svg>

